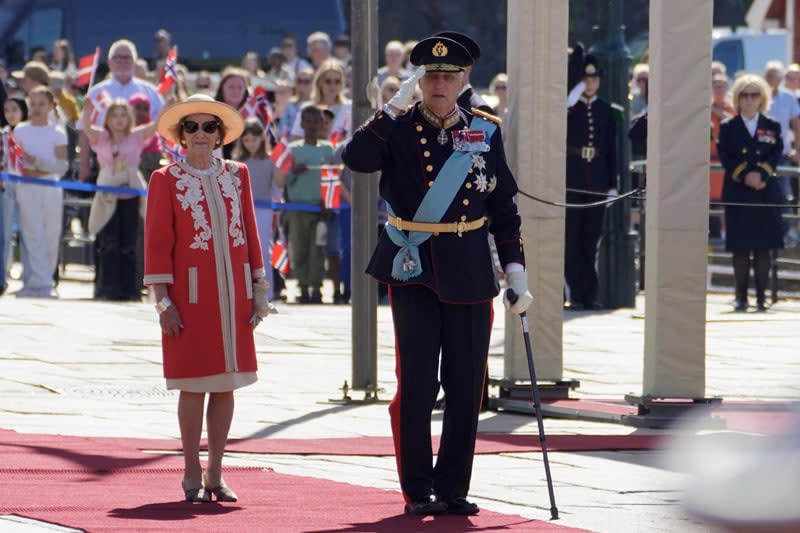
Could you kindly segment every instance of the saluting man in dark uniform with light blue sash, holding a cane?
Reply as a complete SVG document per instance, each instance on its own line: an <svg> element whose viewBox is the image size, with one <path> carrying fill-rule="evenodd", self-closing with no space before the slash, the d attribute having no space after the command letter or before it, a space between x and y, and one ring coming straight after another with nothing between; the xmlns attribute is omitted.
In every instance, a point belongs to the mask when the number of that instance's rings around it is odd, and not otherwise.
<svg viewBox="0 0 800 533"><path fill-rule="evenodd" d="M506 307L521 313L532 297L499 120L456 105L472 56L434 36L416 45L411 61L420 67L353 134L342 159L358 172L380 170L388 204L389 222L367 273L389 286L397 343L389 413L405 510L471 515L478 506L466 496L499 291L487 231L519 295L513 305L505 298ZM422 102L409 107L418 81ZM447 404L434 466L439 374Z"/></svg>

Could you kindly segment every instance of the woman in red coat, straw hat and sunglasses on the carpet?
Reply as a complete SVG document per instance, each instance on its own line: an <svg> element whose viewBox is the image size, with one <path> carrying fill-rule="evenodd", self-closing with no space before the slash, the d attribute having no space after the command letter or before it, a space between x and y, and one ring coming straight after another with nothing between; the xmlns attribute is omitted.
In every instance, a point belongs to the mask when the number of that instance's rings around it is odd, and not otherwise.
<svg viewBox="0 0 800 533"><path fill-rule="evenodd" d="M250 177L214 156L242 133L234 108L194 95L166 108L158 131L186 161L156 170L145 222L145 276L156 297L164 377L180 390L183 489L189 501L236 501L222 479L233 391L256 381L253 327L268 314ZM208 465L200 465L203 405Z"/></svg>

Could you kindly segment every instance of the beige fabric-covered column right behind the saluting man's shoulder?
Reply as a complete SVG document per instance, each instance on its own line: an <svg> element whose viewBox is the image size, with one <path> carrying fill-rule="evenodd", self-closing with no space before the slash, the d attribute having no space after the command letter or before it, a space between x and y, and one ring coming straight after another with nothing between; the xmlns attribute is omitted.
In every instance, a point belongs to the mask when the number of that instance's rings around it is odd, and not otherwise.
<svg viewBox="0 0 800 533"><path fill-rule="evenodd" d="M508 0L509 111L506 156L519 188L564 201L569 2ZM518 197L528 285L531 340L540 380L563 371L564 210ZM520 321L506 316L505 379L528 380Z"/></svg>

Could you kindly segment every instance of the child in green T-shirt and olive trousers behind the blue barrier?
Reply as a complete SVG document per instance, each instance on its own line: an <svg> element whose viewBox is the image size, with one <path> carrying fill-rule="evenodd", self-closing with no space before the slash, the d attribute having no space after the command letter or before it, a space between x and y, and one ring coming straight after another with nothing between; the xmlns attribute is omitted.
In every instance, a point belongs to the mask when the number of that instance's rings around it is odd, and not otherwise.
<svg viewBox="0 0 800 533"><path fill-rule="evenodd" d="M303 138L289 144L294 166L284 175L277 172L278 184L286 186L286 200L290 203L308 204L319 208L320 166L329 165L333 155L331 143L324 140L322 110L307 105L300 112ZM289 254L294 277L300 286L298 303L322 303L320 286L325 266L324 244L320 244L320 224L325 224L320 213L288 211Z"/></svg>

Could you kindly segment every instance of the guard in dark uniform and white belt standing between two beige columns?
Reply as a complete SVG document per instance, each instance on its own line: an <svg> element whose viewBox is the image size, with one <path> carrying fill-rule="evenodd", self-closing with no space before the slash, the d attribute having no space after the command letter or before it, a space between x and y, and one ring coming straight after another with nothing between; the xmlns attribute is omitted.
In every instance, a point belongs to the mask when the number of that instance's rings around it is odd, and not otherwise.
<svg viewBox="0 0 800 533"><path fill-rule="evenodd" d="M571 204L604 200L617 186L616 124L611 106L597 97L600 70L592 55L584 60L583 83L583 94L567 110L567 203ZM567 208L564 268L570 293L568 309L601 308L595 257L604 216L604 206Z"/></svg>

